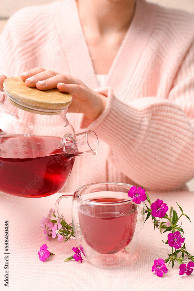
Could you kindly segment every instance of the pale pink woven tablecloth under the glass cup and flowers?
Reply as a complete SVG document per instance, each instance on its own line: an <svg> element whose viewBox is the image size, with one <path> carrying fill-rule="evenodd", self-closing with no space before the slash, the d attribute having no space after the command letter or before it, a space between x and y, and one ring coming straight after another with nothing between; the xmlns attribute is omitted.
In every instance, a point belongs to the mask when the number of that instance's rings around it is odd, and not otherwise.
<svg viewBox="0 0 194 291"><path fill-rule="evenodd" d="M80 262L63 260L72 255L74 240L69 243L51 239L49 242L40 228L40 219L46 216L59 194L46 198L20 198L0 194L0 290L10 291L104 291L104 290L154 290L175 291L193 290L194 272L190 276L179 276L178 264L174 269L169 267L168 273L159 278L151 272L154 258L164 258L170 252L166 241L167 235L153 230L151 221L145 223L140 245L131 262L117 269L101 269L94 267L86 260ZM154 202L163 199L168 206L179 203L192 223L183 217L182 227L185 230L185 242L190 253L194 253L194 193L180 192L177 194L151 193ZM70 203L69 203L70 205ZM70 211L69 211L70 212ZM4 286L4 221L9 221L9 289ZM116 231L116 230L115 230ZM40 262L38 250L40 245L47 244L49 251L55 256Z"/></svg>

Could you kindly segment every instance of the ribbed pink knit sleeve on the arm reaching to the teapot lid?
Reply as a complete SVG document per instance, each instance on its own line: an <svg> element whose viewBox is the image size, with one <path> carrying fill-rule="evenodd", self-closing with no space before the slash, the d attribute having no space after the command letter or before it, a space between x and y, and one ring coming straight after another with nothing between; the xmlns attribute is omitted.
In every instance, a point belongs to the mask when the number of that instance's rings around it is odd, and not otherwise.
<svg viewBox="0 0 194 291"><path fill-rule="evenodd" d="M148 190L180 189L194 175L194 45L177 72L169 100L122 103L111 88L104 112L88 128L110 148L114 167Z"/></svg>

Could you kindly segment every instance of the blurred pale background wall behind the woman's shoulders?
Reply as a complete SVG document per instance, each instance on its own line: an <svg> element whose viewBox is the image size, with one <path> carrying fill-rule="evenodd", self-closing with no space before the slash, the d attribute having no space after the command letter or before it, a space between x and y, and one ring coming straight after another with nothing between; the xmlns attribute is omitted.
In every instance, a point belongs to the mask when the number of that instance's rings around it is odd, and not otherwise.
<svg viewBox="0 0 194 291"><path fill-rule="evenodd" d="M6 24L7 19L15 13L17 10L32 5L42 5L51 3L54 0L1 0L0 2L0 33ZM92 1L92 0L91 0ZM165 7L172 7L178 9L184 9L191 13L194 13L194 0L147 0L149 2L154 2L162 4ZM194 28L193 28L194 29ZM191 191L194 191L194 178L189 181L188 187Z"/></svg>

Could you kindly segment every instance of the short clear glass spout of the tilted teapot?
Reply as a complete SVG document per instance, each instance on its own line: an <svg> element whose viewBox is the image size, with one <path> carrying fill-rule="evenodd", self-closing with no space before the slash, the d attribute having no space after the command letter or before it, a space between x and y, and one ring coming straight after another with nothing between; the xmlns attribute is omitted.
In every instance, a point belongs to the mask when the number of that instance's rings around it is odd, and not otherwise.
<svg viewBox="0 0 194 291"><path fill-rule="evenodd" d="M83 155L86 153L97 154L99 148L98 137L92 130L63 136L63 151L73 155Z"/></svg>

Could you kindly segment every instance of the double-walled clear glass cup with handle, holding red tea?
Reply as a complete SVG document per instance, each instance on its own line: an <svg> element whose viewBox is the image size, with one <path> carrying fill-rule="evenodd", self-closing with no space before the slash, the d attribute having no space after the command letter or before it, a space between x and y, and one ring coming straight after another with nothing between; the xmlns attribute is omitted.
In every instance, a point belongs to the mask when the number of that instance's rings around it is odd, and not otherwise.
<svg viewBox="0 0 194 291"><path fill-rule="evenodd" d="M73 195L56 200L55 214L61 219L59 202L72 197L72 225L79 248L96 266L126 264L140 242L144 202L132 202L132 185L99 182L78 188ZM64 214L62 214L64 217Z"/></svg>

